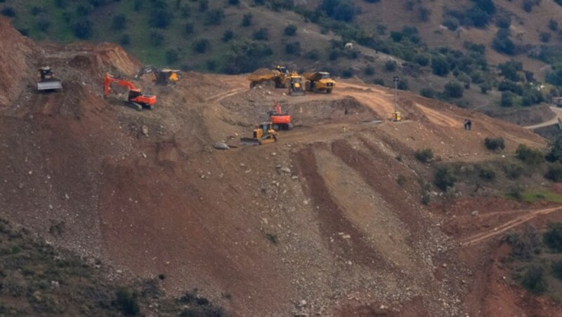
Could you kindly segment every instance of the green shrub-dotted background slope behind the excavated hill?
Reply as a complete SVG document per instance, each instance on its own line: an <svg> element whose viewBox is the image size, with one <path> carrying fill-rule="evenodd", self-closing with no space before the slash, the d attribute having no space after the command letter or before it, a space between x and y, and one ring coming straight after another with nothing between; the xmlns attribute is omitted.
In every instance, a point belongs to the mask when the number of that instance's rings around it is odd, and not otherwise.
<svg viewBox="0 0 562 317"><path fill-rule="evenodd" d="M2 2L34 39L115 41L145 63L184 70L284 63L388 86L400 74L398 88L463 107L530 106L562 85L562 6L540 0ZM363 48L345 50L348 41Z"/></svg>

